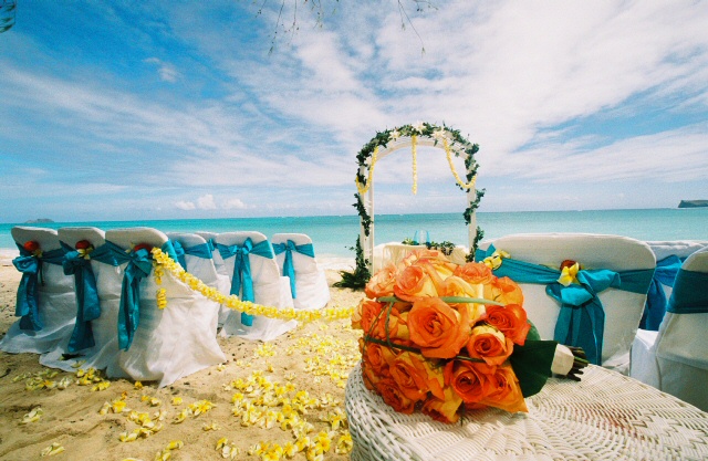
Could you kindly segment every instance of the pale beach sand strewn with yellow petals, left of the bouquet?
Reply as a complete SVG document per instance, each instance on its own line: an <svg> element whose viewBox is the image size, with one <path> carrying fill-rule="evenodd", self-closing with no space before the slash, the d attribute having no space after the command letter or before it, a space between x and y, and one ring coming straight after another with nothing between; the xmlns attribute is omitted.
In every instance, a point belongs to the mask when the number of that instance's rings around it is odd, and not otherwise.
<svg viewBox="0 0 708 461"><path fill-rule="evenodd" d="M327 269L326 272L330 285L339 280L335 270ZM20 273L14 268L0 266L0 337L17 321L14 302L19 281ZM354 306L363 296L363 292L346 289L331 287L331 306ZM319 432L332 430L332 425L322 419L337 410L344 412L344 383L358 359L357 338L361 336L361 332L351 329L348 324L348 321L337 321L301 325L266 346L264 343L238 337L219 337L228 357L223 367L207 368L162 389L150 383L143 383L143 388L136 388L132 380L110 379L107 389L92 391L92 386L76 384L75 374L59 371L51 380L59 383L63 377L71 378L71 385L65 389L27 390L25 381L31 375L51 369L39 365L34 354L0 352L0 460L40 459L43 449L59 443L63 452L42 459L119 461L134 458L152 461L170 441L184 442L181 448L170 451L170 460L219 460L223 458L216 446L223 437L239 449L233 459L258 460L259 457L248 454L249 447L257 442L284 446L294 442L295 437L291 430L282 430L279 422L270 429L257 425L242 426L242 418L232 415L231 399L237 390L229 387L230 383L238 378L247 379L257 371L273 383L285 384L291 379L295 389L290 392L292 397L295 391L304 390L319 400L320 408L311 408L302 416L313 425L309 436L315 439ZM104 402L122 397L127 408L148 412L154 421L154 415L165 410L163 429L136 441L121 442L121 433L131 432L138 425L128 419L128 411L101 415L100 410ZM173 405L174 397L180 397L183 402ZM159 402L150 402L150 398ZM216 407L174 423L181 410L200 400L208 400ZM24 416L37 407L43 411L41 418L35 422L21 423ZM219 429L204 430L205 426L215 422ZM333 434L325 460L348 459L348 454L335 453L335 444L342 433L340 428ZM283 455L282 459L287 458ZM305 454L300 452L292 459L305 460Z"/></svg>

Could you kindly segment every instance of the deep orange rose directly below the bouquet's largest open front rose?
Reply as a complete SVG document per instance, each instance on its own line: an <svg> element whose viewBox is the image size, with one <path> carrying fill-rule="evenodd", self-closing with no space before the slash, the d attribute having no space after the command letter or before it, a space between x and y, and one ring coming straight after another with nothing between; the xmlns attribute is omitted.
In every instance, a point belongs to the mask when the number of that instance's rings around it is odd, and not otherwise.
<svg viewBox="0 0 708 461"><path fill-rule="evenodd" d="M407 350L398 354L391 364L389 370L398 388L410 400L423 400L428 391L438 398L445 398L442 374L433 369L419 354Z"/></svg>

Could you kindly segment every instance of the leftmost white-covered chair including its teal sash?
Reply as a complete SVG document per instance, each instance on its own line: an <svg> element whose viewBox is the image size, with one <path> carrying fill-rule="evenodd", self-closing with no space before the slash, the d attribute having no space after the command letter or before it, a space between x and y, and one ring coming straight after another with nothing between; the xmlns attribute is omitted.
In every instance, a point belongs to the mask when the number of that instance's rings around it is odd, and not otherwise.
<svg viewBox="0 0 708 461"><path fill-rule="evenodd" d="M55 230L14 227L11 233L20 251L12 264L22 273L14 305L19 318L0 350L45 354L65 345L74 327L73 280L64 275L64 250Z"/></svg>

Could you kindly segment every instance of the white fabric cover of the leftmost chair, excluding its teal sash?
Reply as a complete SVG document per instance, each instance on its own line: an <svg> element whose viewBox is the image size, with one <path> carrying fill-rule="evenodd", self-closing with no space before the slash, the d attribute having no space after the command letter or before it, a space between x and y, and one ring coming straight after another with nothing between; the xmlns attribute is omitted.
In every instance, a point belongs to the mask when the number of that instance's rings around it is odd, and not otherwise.
<svg viewBox="0 0 708 461"><path fill-rule="evenodd" d="M42 251L60 249L59 237L53 229L14 227L12 238L21 247L37 241ZM39 283L39 318L42 329L21 329L20 319L14 322L0 340L0 350L10 354L44 354L66 344L76 318L76 296L72 276L64 275L61 264L42 264L42 280ZM14 306L12 306L14 312Z"/></svg>

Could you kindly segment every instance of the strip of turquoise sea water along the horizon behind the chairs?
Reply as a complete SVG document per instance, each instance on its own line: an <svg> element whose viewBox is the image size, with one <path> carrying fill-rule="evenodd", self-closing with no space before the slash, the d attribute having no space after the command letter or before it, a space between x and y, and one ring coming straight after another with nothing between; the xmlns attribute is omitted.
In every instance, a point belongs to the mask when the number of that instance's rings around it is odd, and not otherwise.
<svg viewBox="0 0 708 461"><path fill-rule="evenodd" d="M480 212L477 222L485 230L486 239L522 232L589 232L638 240L708 240L708 208ZM14 248L10 235L13 226L17 224L0 223L0 248ZM147 226L165 232L256 230L268 237L278 232L299 232L312 238L317 256L353 256L348 248L354 245L358 235L356 216L54 222L32 226L53 229L95 226L103 230ZM376 216L375 242L413 238L416 229L427 230L434 241L449 240L467 245L467 228L461 213Z"/></svg>

